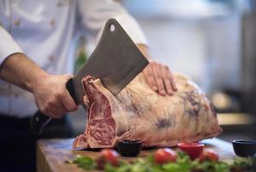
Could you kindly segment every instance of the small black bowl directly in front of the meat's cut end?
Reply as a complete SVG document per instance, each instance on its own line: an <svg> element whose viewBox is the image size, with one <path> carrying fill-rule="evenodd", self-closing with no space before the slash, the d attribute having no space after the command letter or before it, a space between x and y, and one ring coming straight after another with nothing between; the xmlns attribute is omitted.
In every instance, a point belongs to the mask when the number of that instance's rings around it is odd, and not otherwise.
<svg viewBox="0 0 256 172"><path fill-rule="evenodd" d="M122 157L137 157L141 148L142 143L140 140L122 140L117 144L117 151Z"/></svg>

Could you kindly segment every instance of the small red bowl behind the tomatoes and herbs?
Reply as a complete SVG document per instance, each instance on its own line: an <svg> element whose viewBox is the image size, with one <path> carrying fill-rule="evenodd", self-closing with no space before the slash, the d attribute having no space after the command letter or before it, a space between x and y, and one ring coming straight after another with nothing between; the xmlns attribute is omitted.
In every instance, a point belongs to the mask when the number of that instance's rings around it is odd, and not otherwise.
<svg viewBox="0 0 256 172"><path fill-rule="evenodd" d="M178 144L178 148L181 151L186 152L190 156L191 160L194 160L197 157L199 157L199 155L203 151L203 147L204 147L204 144L200 144L200 143L191 143L191 144L179 143Z"/></svg>

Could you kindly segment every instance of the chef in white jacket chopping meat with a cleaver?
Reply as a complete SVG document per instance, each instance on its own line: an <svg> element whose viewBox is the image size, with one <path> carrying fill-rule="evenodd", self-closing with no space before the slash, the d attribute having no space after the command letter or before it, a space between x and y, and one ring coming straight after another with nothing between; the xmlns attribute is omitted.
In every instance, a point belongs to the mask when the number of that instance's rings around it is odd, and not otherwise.
<svg viewBox="0 0 256 172"><path fill-rule="evenodd" d="M66 90L73 71L70 47L74 34L80 24L97 42L109 18L120 22L150 59L138 23L116 1L0 0L0 171L34 171L37 137L29 130L29 117L40 109L58 119L78 109ZM151 60L143 73L160 95L172 95L176 90L164 64ZM47 138L72 136L65 119L53 124Z"/></svg>

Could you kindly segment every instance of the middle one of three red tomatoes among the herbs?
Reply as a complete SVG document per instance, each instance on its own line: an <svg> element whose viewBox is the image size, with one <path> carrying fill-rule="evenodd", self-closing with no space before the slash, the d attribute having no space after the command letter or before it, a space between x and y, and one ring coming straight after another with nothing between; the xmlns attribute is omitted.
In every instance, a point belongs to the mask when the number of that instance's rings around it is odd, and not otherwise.
<svg viewBox="0 0 256 172"><path fill-rule="evenodd" d="M155 163L163 164L175 162L177 155L175 151L172 151L169 148L162 148L154 152L153 158Z"/></svg>

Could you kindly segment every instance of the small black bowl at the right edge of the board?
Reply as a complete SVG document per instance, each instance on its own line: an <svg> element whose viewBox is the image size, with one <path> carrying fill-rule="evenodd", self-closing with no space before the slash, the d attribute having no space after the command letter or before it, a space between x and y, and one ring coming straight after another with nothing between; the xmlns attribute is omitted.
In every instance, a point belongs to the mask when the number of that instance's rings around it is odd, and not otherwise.
<svg viewBox="0 0 256 172"><path fill-rule="evenodd" d="M234 140L233 148L239 157L253 157L256 152L256 140Z"/></svg>

